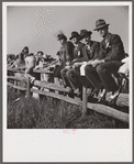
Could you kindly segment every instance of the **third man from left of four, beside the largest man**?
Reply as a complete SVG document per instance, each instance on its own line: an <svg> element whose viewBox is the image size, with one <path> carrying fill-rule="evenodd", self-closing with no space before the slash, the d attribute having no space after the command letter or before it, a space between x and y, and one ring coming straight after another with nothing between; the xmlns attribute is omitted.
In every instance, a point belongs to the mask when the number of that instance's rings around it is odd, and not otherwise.
<svg viewBox="0 0 134 164"><path fill-rule="evenodd" d="M81 76L80 74L81 66L85 63L89 64L92 59L96 59L100 51L100 43L91 41L91 34L92 34L91 31L87 30L80 31L80 40L85 44L81 52L83 57L81 62L75 63L74 68L67 72L68 80L74 90L77 88L82 88L82 86L92 87L88 78L86 78L86 76ZM78 96L81 98L82 90L80 90Z"/></svg>

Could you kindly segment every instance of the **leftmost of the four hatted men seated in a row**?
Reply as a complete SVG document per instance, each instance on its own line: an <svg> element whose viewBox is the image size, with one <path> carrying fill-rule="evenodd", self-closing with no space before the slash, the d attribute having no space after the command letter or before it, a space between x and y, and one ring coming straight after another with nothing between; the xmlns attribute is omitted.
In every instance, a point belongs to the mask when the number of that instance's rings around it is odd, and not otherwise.
<svg viewBox="0 0 134 164"><path fill-rule="evenodd" d="M60 42L62 46L59 48L59 61L60 65L58 65L54 70L54 77L55 79L62 79L60 70L65 66L69 66L71 61L74 59L74 44L69 41L67 41L67 36L65 34L58 34L57 41ZM57 80L57 79L56 79Z"/></svg>

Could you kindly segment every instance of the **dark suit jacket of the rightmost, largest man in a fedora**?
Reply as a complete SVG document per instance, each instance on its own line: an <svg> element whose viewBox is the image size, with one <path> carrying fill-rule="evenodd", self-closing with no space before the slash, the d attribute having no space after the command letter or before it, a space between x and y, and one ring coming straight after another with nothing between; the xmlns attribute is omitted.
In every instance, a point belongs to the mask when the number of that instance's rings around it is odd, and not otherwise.
<svg viewBox="0 0 134 164"><path fill-rule="evenodd" d="M108 43L102 40L100 43L99 59L110 61L122 61L125 57L124 46L122 40L116 34L109 33Z"/></svg>

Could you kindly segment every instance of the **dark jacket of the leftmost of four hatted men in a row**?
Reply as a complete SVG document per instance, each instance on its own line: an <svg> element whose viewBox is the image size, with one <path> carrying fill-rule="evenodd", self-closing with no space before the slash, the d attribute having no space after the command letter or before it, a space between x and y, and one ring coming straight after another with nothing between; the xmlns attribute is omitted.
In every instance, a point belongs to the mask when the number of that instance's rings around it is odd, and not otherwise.
<svg viewBox="0 0 134 164"><path fill-rule="evenodd" d="M74 44L71 42L65 42L59 50L59 61L60 65L65 66L67 62L74 59Z"/></svg>

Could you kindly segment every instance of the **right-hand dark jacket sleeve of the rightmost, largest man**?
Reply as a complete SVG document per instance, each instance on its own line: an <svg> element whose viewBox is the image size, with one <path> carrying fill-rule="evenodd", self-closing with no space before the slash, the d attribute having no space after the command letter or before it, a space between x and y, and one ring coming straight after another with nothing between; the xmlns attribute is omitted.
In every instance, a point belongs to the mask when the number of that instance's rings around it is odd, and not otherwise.
<svg viewBox="0 0 134 164"><path fill-rule="evenodd" d="M124 47L123 43L121 41L121 37L119 35L114 35L111 41L111 48L107 56L103 58L105 62L109 61L121 61L124 58Z"/></svg>

